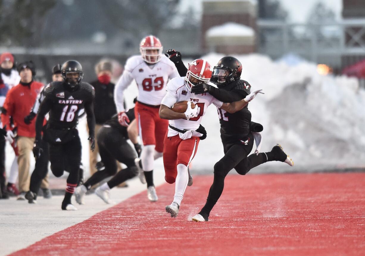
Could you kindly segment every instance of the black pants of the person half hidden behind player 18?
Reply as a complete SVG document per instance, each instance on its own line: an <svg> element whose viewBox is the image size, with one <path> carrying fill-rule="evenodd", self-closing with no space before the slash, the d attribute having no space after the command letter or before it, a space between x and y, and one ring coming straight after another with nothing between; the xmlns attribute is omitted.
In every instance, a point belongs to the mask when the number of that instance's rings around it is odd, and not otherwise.
<svg viewBox="0 0 365 256"><path fill-rule="evenodd" d="M48 172L49 161L49 146L44 140L39 141L41 148L43 149L41 156L35 161L34 171L30 177L29 190L35 194L38 194L41 187L42 180L46 177Z"/></svg>

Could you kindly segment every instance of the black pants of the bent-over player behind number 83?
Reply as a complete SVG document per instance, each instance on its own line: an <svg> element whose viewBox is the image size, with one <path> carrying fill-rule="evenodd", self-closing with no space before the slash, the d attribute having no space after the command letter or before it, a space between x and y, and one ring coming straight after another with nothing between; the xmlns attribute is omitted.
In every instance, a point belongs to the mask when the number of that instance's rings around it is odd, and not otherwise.
<svg viewBox="0 0 365 256"><path fill-rule="evenodd" d="M137 175L138 170L134 162L137 154L118 129L103 126L97 134L96 141L105 168L95 172L84 183L85 187L89 189L103 179L115 175L108 182L108 186L112 188ZM127 165L127 168L117 173L118 167L115 160Z"/></svg>

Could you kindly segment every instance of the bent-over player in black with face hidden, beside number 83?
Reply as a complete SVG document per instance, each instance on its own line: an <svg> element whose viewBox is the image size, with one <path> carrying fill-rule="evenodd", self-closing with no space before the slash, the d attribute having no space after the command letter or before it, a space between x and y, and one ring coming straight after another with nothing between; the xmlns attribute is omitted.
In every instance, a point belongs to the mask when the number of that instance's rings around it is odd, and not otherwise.
<svg viewBox="0 0 365 256"><path fill-rule="evenodd" d="M97 166L95 172L83 185L75 190L76 202L84 205L84 196L86 192L96 183L101 182L107 177L113 176L111 180L104 183L95 190L95 194L104 200L105 203L114 203L109 198L109 191L111 188L118 186L128 179L139 175L142 183L146 183L145 174L140 166L140 159L137 158L136 153L128 144L128 138L134 144L135 150L140 152L141 146L138 144L138 134L134 133L135 116L134 108L126 112L130 125L128 127L120 125L118 115L114 115L112 119L105 122L97 134L97 145L99 146L99 153L101 162ZM118 160L120 163L127 165L127 168L120 170L117 173Z"/></svg>

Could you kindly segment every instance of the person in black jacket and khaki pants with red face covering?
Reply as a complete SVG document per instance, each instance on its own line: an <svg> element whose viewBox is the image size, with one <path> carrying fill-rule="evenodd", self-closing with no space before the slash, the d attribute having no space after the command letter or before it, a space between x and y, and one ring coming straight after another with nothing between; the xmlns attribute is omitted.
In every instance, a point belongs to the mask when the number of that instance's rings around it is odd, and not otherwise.
<svg viewBox="0 0 365 256"><path fill-rule="evenodd" d="M114 103L114 87L111 83L112 64L108 60L101 60L95 66L95 73L97 80L90 84L95 88L94 114L95 114L95 135L99 132L103 124L116 114L116 107ZM97 136L95 136L97 138ZM95 143L95 150L90 150L90 175L93 175L97 169L97 157L99 154L99 147ZM118 171L121 168L118 162Z"/></svg>

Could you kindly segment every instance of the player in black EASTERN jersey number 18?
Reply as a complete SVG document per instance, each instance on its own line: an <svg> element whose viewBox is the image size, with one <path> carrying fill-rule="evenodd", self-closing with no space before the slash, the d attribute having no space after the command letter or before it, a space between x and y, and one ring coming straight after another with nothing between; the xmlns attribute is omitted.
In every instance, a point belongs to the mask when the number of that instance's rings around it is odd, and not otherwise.
<svg viewBox="0 0 365 256"><path fill-rule="evenodd" d="M82 66L79 62L66 61L61 68L62 82L52 82L45 89L45 99L39 107L35 122L35 144L33 153L36 158L42 154L42 127L45 115L49 112L46 129L43 130L43 140L49 143L49 158L51 171L56 177L67 170L65 198L62 210L77 210L71 203L72 194L77 186L81 163L81 141L78 135L78 112L85 109L89 128L91 149L95 149L95 116L93 99L94 88L81 82Z"/></svg>

